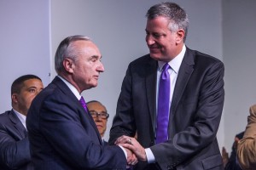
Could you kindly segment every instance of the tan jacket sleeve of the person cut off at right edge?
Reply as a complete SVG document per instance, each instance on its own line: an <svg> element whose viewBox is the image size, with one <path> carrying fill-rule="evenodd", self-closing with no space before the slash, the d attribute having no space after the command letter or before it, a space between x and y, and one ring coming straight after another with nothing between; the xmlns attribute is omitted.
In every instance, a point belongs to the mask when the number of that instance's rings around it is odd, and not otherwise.
<svg viewBox="0 0 256 170"><path fill-rule="evenodd" d="M256 105L250 107L244 136L238 142L237 156L242 169L256 168Z"/></svg>

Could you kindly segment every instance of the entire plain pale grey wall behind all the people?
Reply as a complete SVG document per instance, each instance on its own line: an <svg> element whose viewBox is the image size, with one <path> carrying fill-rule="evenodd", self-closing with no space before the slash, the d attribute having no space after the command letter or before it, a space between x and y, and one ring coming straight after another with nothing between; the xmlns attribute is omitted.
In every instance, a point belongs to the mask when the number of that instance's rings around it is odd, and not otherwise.
<svg viewBox="0 0 256 170"><path fill-rule="evenodd" d="M83 93L86 101L106 105L110 118L129 63L148 54L145 14L158 0L0 0L0 113L11 109L10 86L24 74L41 77L44 86L55 77L54 55L62 39L85 35L102 52L97 88ZM236 133L247 124L249 106L256 104L256 1L173 1L189 14L186 45L221 59L225 65L225 101L218 129L221 149L230 151Z"/></svg>

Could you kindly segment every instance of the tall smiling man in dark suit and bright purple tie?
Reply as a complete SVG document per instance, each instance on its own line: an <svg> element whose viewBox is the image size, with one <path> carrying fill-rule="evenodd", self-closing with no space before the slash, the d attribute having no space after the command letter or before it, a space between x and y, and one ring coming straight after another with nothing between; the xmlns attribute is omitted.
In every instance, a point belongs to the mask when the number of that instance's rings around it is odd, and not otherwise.
<svg viewBox="0 0 256 170"><path fill-rule="evenodd" d="M156 4L147 17L149 54L128 66L109 142L135 152L134 169L223 169L216 139L223 63L184 45L189 20L176 3Z"/></svg>

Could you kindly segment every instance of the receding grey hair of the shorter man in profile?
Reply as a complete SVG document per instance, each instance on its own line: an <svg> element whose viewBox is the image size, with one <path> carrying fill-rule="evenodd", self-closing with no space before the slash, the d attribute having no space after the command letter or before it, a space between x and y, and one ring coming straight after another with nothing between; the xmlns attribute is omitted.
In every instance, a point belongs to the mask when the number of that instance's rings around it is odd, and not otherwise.
<svg viewBox="0 0 256 170"><path fill-rule="evenodd" d="M90 37L78 35L78 36L66 37L60 43L55 53L55 71L58 74L65 71L63 66L64 59L68 58L68 59L73 59L73 61L76 61L79 51L74 47L73 42L79 41L79 40L91 41Z"/></svg>

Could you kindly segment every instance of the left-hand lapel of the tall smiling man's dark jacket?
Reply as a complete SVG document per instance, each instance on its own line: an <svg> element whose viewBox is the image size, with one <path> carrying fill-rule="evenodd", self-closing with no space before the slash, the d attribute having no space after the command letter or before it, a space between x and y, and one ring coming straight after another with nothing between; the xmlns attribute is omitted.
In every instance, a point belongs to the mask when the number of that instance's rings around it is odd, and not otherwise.
<svg viewBox="0 0 256 170"><path fill-rule="evenodd" d="M148 99L148 108L151 116L151 123L153 131L155 131L155 120L156 120L156 77L157 77L157 61L154 59L149 59L146 77L146 93Z"/></svg>

